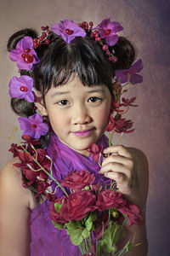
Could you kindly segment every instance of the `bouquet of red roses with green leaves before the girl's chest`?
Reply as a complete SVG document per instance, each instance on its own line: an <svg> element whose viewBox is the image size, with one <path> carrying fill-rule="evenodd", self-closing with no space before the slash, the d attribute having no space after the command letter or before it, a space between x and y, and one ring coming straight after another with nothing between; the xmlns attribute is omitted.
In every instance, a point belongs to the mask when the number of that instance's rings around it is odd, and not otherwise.
<svg viewBox="0 0 170 256"><path fill-rule="evenodd" d="M67 230L82 255L123 255L136 244L128 241L121 251L116 243L125 236L124 225L143 224L139 207L116 191L114 182L95 184L88 171L71 172L60 183L65 195L55 198L49 214L54 227ZM103 253L103 254L102 254ZM111 254L110 254L111 253Z"/></svg>

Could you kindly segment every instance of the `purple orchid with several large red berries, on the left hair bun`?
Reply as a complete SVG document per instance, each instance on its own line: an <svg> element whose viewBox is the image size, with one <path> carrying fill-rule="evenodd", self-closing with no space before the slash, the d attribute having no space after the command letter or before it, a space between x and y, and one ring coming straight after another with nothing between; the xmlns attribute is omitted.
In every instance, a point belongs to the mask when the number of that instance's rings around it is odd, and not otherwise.
<svg viewBox="0 0 170 256"><path fill-rule="evenodd" d="M11 61L17 61L17 67L20 69L31 69L33 64L40 60L36 51L33 49L33 40L31 37L22 38L17 44L16 49L12 49L9 53Z"/></svg>

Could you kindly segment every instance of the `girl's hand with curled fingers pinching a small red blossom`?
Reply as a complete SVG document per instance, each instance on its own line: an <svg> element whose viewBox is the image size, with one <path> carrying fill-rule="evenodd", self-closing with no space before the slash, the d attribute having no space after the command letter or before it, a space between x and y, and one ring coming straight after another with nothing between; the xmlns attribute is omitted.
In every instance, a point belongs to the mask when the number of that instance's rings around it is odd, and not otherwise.
<svg viewBox="0 0 170 256"><path fill-rule="evenodd" d="M130 195L134 185L138 183L133 155L121 145L105 148L104 154L109 156L103 160L99 173L115 180L122 194Z"/></svg>

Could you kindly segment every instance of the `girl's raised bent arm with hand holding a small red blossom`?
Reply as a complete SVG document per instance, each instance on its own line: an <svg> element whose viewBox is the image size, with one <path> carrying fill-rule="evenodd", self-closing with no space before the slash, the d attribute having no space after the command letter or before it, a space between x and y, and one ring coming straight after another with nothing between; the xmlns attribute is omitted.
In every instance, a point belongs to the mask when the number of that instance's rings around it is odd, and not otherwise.
<svg viewBox="0 0 170 256"><path fill-rule="evenodd" d="M127 235L118 244L121 249L127 241L134 238L135 243L141 243L135 247L129 256L147 255L147 236L145 227L145 205L148 194L149 171L148 161L142 151L137 148L125 148L112 146L106 148L105 154L111 154L102 164L100 173L105 177L116 180L120 192L133 204L139 206L143 213L144 224L139 226L126 224Z"/></svg>

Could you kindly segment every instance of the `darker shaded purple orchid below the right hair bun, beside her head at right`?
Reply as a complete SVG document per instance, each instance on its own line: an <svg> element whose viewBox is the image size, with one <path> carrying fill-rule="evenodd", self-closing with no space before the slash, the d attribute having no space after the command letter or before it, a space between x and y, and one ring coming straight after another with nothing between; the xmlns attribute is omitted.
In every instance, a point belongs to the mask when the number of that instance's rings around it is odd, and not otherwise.
<svg viewBox="0 0 170 256"><path fill-rule="evenodd" d="M138 84L143 82L143 77L138 73L144 67L142 60L136 61L129 69L116 70L116 79L120 79L122 84L129 82L132 84Z"/></svg>

